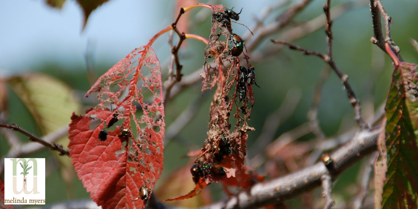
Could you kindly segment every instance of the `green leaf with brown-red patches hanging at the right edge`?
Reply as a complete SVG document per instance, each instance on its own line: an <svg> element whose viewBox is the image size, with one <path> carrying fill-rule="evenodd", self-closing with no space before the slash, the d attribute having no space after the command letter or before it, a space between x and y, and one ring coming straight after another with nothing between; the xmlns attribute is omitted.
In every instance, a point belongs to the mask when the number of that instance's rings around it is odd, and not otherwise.
<svg viewBox="0 0 418 209"><path fill-rule="evenodd" d="M392 75L386 103L387 172L382 208L417 208L418 75L401 62Z"/></svg>

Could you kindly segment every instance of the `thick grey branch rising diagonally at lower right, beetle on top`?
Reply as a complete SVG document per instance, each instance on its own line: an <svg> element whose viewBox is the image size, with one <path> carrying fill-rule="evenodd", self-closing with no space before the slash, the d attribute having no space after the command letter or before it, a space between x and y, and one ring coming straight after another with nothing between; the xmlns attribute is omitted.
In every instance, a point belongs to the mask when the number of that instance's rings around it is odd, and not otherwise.
<svg viewBox="0 0 418 209"><path fill-rule="evenodd" d="M331 178L335 179L349 166L377 150L377 138L382 131L384 131L384 128L381 125L370 130L360 130L346 145L332 153L333 172L331 173L324 163L316 163L314 166L296 173L254 184L249 191L242 191L227 201L205 206L204 208L247 209L294 198L303 192L320 186L321 178L324 175L330 173Z"/></svg>

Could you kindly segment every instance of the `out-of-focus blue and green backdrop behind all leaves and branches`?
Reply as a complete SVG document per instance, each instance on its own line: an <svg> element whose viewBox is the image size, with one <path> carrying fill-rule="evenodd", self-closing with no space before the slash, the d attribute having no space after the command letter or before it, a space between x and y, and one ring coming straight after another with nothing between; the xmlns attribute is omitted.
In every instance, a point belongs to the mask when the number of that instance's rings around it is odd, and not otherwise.
<svg viewBox="0 0 418 209"><path fill-rule="evenodd" d="M292 3L298 1L291 1ZM349 0L332 1L331 6L350 2ZM339 68L349 75L349 82L354 92L360 99L364 115L369 123L372 122L373 111L383 104L390 84L390 76L393 70L391 61L377 46L374 46L372 37L372 20L369 1L359 2L346 13L334 20L334 60ZM240 15L240 23L255 25L255 18L263 15L263 8L273 4L272 1L238 1L224 0L212 1L212 4L224 4L229 8L243 8ZM287 28L304 23L319 15L323 15L322 5L325 1L314 0L301 13L296 15ZM95 98L85 99L83 96L91 86L88 73L97 79L117 61L122 59L134 48L142 46L156 32L169 25L177 12L173 11L175 1L134 1L134 0L110 0L109 3L94 10L89 17L84 31L82 28L82 12L75 1L66 1L62 10L51 8L44 1L2 1L0 2L0 76L8 82L7 92L7 123L16 123L31 133L42 136L49 131L43 130L38 124L38 118L31 114L31 108L21 100L19 91L10 85L13 76L42 73L56 79L56 85L62 88L59 92L55 88L38 85L39 92L43 96L56 97L60 102L51 100L44 114L45 120L57 120L59 123L69 123L71 112L82 114L89 107L94 107ZM400 0L384 1L387 13L393 18L391 25L392 38L400 47L405 61L418 63L418 54L410 44L410 38L418 40L418 28L416 11L418 1ZM266 23L272 22L278 15L285 11L286 6L275 11L267 18ZM191 10L193 17L201 15L205 8ZM235 9L236 10L236 9ZM193 21L192 21L193 23ZM234 33L245 34L247 29L242 25L232 23ZM195 23L188 33L209 37L210 20L207 18L202 23ZM268 36L255 48L257 52L268 51L273 47L270 38L280 37L281 32ZM244 37L244 36L243 36ZM158 58L161 61L163 76L167 76L170 61L170 50L167 43L168 33L158 38L153 44ZM176 39L175 39L176 40ZM182 48L180 62L183 64L183 74L188 75L201 68L204 44L196 40L186 40L187 46ZM326 40L324 28L305 37L293 41L296 45L305 48L326 52ZM275 46L274 46L275 47ZM250 54L250 57L252 54ZM86 61L86 58L88 61ZM251 61L251 59L250 59ZM262 56L262 59L251 61L257 72L257 84L255 88L255 105L252 110L249 125L257 131L249 133L248 149L257 145L257 137L260 135L266 117L278 109L285 95L290 89L301 92L301 100L290 118L285 120L275 132L274 138L307 121L306 113L311 105L314 87L324 69L322 60L314 56L303 56L298 51L283 48L278 53ZM20 81L20 84L29 84L28 80ZM54 83L55 84L55 83ZM201 96L201 83L185 89L172 100L166 107L166 128L176 119L189 104ZM48 92L51 91L51 92ZM39 93L38 92L38 93ZM59 92L59 93L57 93ZM354 114L347 99L342 82L331 71L329 79L324 83L323 96L319 105L320 126L327 136L336 135L349 130L355 125ZM161 182L177 168L184 166L189 159L183 156L190 150L199 149L206 138L209 121L209 105L212 99L211 92L204 93L204 99L200 103L196 116L191 122L166 145L164 153L164 170L157 183ZM71 97L68 102L65 99ZM38 96L34 95L34 98ZM42 97L44 98L44 97ZM50 99L50 98L49 98ZM45 102L45 99L40 99ZM64 101L64 103L62 103ZM31 104L31 103L29 103ZM39 103L33 103L36 105ZM38 108L38 107L35 107ZM54 111L51 111L51 108ZM55 111L56 110L56 111ZM52 119L51 119L52 118ZM58 128L58 126L56 127ZM53 130L51 130L53 131ZM22 143L28 139L18 135ZM301 140L312 138L308 135ZM68 139L63 139L66 145ZM3 135L0 135L0 156L4 156L9 145ZM53 153L53 154L51 154ZM71 166L68 157L59 157L56 153L43 149L22 157L46 158L47 185L46 201L48 204L72 199L86 199L89 194L85 191ZM62 159L65 158L64 163ZM67 163L67 164L66 164ZM65 168L67 165L68 167ZM347 185L355 181L358 165L345 172L334 184L336 192L340 192L342 199L349 199ZM65 173L72 172L72 174ZM263 174L263 169L260 173ZM1 179L3 180L3 176ZM220 185L211 185L214 191L214 199L221 198ZM181 194L178 194L181 195ZM158 197L157 197L158 198ZM338 198L337 198L338 199ZM296 201L289 204L298 206Z"/></svg>

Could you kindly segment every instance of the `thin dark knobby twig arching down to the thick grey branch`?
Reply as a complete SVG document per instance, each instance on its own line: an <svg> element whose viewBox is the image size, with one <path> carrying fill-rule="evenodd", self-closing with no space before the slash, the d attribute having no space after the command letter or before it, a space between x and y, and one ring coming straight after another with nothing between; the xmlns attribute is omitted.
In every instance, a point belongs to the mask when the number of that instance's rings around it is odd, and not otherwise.
<svg viewBox="0 0 418 209"><path fill-rule="evenodd" d="M275 41L273 39L271 41L273 43L280 43L280 44L287 45L287 46L289 46L289 48L294 49L294 50L302 51L303 54L314 55L314 56L318 56L321 59L323 59L334 70L334 72L339 76L339 78L343 82L344 88L347 91L347 97L350 100L350 103L351 103L351 105L353 106L353 109L354 109L355 120L359 124L360 128L362 130L365 130L365 129L369 128L369 125L367 124L367 122L364 121L364 119L362 117L362 109L360 107L360 102L357 99L356 95L354 94L353 89L351 88L351 85L348 82L348 76L346 74L342 73L342 71L336 66L333 59L331 59L326 54L322 54L321 52L309 51L305 48L302 48L300 46L296 46L296 45L288 43L286 41Z"/></svg>

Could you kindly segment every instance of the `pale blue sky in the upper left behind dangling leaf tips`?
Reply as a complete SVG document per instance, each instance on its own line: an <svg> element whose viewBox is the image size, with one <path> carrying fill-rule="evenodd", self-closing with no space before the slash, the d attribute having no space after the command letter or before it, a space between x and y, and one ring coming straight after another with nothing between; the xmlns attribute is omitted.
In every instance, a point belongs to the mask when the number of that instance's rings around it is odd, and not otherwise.
<svg viewBox="0 0 418 209"><path fill-rule="evenodd" d="M156 22L163 28L173 21L173 15L151 13L159 6L153 1L111 0L93 11L81 31L83 14L76 1L67 0L62 10L44 2L0 2L0 71L31 70L50 60L84 64L88 42L94 60L117 62L160 30ZM153 21L143 21L147 18Z"/></svg>

